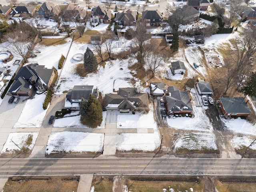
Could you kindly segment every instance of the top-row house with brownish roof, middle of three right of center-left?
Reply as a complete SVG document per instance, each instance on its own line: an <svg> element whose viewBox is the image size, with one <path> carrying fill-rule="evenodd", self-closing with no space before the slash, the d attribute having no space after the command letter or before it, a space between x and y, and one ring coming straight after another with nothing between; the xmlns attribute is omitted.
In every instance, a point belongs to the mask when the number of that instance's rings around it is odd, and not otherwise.
<svg viewBox="0 0 256 192"><path fill-rule="evenodd" d="M130 9L116 13L116 22L118 25L131 26L136 22L137 14Z"/></svg>

